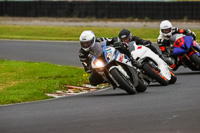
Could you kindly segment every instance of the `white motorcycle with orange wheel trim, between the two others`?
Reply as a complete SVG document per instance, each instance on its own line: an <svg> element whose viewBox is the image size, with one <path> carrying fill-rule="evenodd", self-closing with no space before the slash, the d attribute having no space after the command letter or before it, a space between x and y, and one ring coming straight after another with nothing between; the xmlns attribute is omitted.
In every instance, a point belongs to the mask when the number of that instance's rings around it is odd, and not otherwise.
<svg viewBox="0 0 200 133"><path fill-rule="evenodd" d="M142 77L150 82L159 82L161 85L174 84L177 80L171 68L151 49L143 45L136 45L135 42L130 42L129 47L132 57L142 64Z"/></svg>

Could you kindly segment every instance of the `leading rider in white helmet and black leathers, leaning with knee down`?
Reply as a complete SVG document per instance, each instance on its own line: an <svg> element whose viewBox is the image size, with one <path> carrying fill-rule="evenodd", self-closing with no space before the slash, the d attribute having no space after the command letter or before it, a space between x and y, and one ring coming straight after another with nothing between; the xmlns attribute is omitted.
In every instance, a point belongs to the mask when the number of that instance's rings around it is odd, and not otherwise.
<svg viewBox="0 0 200 133"><path fill-rule="evenodd" d="M100 56L102 54L102 44L106 41L104 38L96 38L95 34L86 30L83 31L79 38L81 48L79 50L80 61L87 73L91 73L89 77L90 84L96 86L103 83L103 78L94 69L91 68L91 58L89 54Z"/></svg>

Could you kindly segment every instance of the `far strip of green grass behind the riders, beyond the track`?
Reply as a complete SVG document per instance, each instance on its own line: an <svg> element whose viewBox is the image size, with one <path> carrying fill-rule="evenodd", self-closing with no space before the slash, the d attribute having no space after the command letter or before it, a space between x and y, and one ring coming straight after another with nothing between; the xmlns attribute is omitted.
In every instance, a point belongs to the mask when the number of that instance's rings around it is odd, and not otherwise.
<svg viewBox="0 0 200 133"><path fill-rule="evenodd" d="M67 27L67 26L17 26L0 25L0 39L67 40L78 41L84 30L92 30L97 37L115 37L122 28L109 27ZM133 35L143 39L156 40L158 29L130 29Z"/></svg>

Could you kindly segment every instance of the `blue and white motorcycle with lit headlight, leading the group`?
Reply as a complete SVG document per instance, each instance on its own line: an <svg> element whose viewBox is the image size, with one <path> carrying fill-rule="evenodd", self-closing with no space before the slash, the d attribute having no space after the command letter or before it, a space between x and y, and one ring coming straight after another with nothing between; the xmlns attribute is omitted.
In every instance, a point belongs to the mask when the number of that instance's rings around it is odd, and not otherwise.
<svg viewBox="0 0 200 133"><path fill-rule="evenodd" d="M119 87L128 94L144 92L147 85L138 76L137 68L130 59L112 46L102 45L103 54L99 57L91 56L91 66L102 78L109 82L113 89Z"/></svg>

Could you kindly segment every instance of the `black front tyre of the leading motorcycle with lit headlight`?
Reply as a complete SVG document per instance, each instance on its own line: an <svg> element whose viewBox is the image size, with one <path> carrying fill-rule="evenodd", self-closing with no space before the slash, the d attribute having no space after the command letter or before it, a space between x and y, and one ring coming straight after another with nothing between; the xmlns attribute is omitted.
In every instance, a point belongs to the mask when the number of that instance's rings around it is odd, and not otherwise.
<svg viewBox="0 0 200 133"><path fill-rule="evenodd" d="M137 91L133 88L133 85L130 79L126 78L121 72L119 72L116 68L113 68L110 71L112 77L117 81L120 85L119 87L125 90L128 94L133 95L137 93Z"/></svg>

